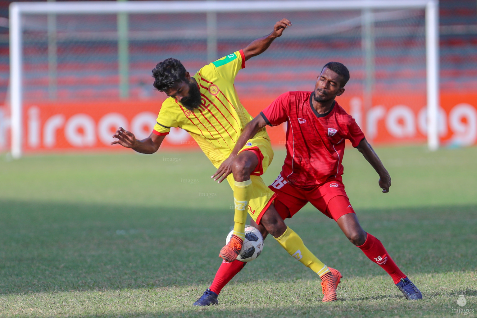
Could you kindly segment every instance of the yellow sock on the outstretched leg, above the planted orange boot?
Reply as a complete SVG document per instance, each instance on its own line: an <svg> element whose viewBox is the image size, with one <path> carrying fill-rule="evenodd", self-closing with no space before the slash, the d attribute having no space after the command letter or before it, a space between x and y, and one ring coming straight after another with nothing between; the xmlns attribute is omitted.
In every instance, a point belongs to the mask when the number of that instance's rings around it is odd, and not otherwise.
<svg viewBox="0 0 477 318"><path fill-rule="evenodd" d="M324 265L310 250L303 244L301 237L298 236L290 227L287 226L286 231L280 236L275 237L281 247L288 254L298 259L304 266L310 268L320 277L328 273L328 266Z"/></svg>

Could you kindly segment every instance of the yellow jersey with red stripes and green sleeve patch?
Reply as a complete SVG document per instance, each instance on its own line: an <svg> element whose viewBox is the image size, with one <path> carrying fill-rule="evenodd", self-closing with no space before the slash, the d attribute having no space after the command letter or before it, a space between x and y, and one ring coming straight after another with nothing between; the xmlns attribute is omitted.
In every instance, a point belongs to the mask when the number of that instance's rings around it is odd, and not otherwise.
<svg viewBox="0 0 477 318"><path fill-rule="evenodd" d="M245 125L252 120L234 86L235 76L243 68L242 50L201 68L193 76L200 90L201 105L190 111L176 99L167 98L157 115L153 133L166 135L171 127L186 130L218 167L232 152ZM256 137L270 141L265 128Z"/></svg>

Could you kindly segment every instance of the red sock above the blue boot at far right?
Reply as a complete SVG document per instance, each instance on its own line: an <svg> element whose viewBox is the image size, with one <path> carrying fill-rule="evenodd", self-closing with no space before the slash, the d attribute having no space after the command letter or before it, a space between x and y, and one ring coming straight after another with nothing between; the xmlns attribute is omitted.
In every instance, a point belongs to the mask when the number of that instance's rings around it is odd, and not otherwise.
<svg viewBox="0 0 477 318"><path fill-rule="evenodd" d="M381 266L381 268L393 278L394 284L399 283L401 278L406 277L399 267L397 267L396 263L394 263L391 256L389 256L383 243L381 243L376 237L368 233L368 237L366 237L364 244L358 247L361 248L363 253L368 256L369 259Z"/></svg>

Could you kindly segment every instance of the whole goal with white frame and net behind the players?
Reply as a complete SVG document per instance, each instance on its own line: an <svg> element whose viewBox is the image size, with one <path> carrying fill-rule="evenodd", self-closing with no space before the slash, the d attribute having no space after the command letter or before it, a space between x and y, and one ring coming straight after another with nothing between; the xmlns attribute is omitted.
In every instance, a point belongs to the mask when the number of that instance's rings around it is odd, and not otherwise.
<svg viewBox="0 0 477 318"><path fill-rule="evenodd" d="M14 3L10 109L0 110L0 150L11 147L14 157L118 150L109 143L119 126L145 138L166 98L152 86L157 62L174 57L194 74L269 34L284 17L293 25L235 80L252 116L283 92L313 90L322 66L336 61L351 75L336 100L368 140L424 143L427 123L436 126L435 115L426 119L427 105L437 109L436 83L428 80L429 73L437 76L436 39L429 35L436 32L429 13L435 6L432 0ZM269 133L274 144L285 138L283 127ZM164 147L195 143L174 129Z"/></svg>

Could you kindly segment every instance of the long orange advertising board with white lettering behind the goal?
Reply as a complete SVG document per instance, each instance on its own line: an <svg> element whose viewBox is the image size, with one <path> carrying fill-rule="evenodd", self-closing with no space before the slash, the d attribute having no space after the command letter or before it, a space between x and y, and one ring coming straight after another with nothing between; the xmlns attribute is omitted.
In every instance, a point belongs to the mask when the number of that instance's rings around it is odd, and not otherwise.
<svg viewBox="0 0 477 318"><path fill-rule="evenodd" d="M346 94L344 94L346 95ZM361 96L340 96L337 102L363 129L372 144L418 144L426 141L424 95L381 94L372 107ZM252 116L275 96L243 97ZM110 145L114 131L122 126L144 139L152 132L162 100L97 103L27 103L24 105L23 149L25 153L70 150L120 150ZM439 136L441 143L471 145L477 142L477 94L441 94ZM0 109L0 150L8 146L8 112ZM286 124L267 128L272 144L285 140ZM4 148L4 149L1 149ZM196 143L182 129L172 129L163 149L195 150Z"/></svg>

